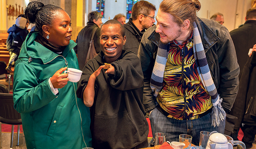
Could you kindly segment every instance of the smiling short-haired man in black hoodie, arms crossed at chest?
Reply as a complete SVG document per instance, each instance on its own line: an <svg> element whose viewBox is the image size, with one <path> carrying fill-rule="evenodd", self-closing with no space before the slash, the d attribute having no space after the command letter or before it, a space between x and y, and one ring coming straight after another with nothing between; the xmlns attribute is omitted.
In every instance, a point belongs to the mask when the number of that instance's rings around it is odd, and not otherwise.
<svg viewBox="0 0 256 149"><path fill-rule="evenodd" d="M135 53L122 50L124 30L117 20L102 25L102 50L86 63L77 88L77 96L90 107L93 148L148 146L141 63ZM102 69L104 63L109 69Z"/></svg>

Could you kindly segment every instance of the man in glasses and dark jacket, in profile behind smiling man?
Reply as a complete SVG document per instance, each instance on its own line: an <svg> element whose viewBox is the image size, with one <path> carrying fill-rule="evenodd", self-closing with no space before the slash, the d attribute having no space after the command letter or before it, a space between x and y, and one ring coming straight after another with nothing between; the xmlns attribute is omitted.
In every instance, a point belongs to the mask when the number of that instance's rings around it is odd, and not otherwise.
<svg viewBox="0 0 256 149"><path fill-rule="evenodd" d="M155 23L156 8L150 2L139 1L131 11L131 18L124 25L127 40L123 48L138 54L143 33Z"/></svg>

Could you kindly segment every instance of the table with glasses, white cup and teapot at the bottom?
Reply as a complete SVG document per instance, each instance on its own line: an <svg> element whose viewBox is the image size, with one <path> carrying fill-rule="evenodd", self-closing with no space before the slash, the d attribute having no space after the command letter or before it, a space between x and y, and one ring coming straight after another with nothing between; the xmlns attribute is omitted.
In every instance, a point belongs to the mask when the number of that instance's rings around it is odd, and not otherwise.
<svg viewBox="0 0 256 149"><path fill-rule="evenodd" d="M217 131L212 131L211 133L209 131L200 131L199 146L192 144L192 136L187 134L180 134L179 142L166 141L166 135L164 133L155 133L154 139L155 146L145 149L168 148L169 145L174 149L233 149L233 146L236 145L240 145L242 149L246 149L242 141L234 141L232 137L218 133Z"/></svg>

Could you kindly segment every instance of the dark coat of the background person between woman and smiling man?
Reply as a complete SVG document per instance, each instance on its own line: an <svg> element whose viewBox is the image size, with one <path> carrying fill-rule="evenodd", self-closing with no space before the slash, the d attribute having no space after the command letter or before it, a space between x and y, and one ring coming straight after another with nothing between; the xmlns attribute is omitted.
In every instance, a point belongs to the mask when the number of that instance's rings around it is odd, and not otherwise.
<svg viewBox="0 0 256 149"><path fill-rule="evenodd" d="M85 66L85 59L88 53L89 45L90 45L90 38L92 37L93 28L98 28L93 22L87 22L86 27L84 27L77 35L76 43L77 46L74 48L75 52L77 53L77 59L79 61L79 68L82 70ZM97 53L100 53L100 34L101 29L98 28L94 34L94 47Z"/></svg>

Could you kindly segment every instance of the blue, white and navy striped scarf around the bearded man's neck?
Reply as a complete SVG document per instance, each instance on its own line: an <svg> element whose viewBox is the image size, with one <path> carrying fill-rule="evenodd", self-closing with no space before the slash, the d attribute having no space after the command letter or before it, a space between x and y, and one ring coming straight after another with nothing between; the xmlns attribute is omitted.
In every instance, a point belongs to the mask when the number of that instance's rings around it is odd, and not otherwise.
<svg viewBox="0 0 256 149"><path fill-rule="evenodd" d="M203 83L205 90L209 93L212 99L212 126L215 127L219 126L220 121L225 120L226 113L221 106L222 99L218 95L212 76L210 75L210 69L208 66L207 58L205 56L199 30L195 22L193 23L193 25L195 27L193 29L193 52L195 56L196 67L201 78L201 82ZM170 43L163 44L162 42L159 42L158 53L156 56L155 65L152 71L150 81L150 86L154 93L154 96L157 96L163 87L163 75L169 50Z"/></svg>

